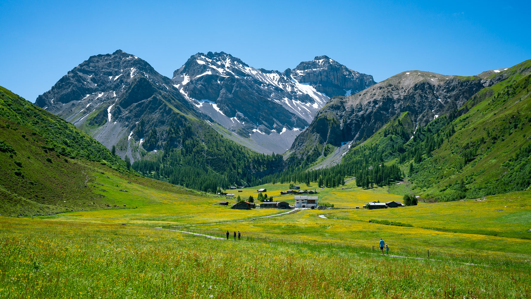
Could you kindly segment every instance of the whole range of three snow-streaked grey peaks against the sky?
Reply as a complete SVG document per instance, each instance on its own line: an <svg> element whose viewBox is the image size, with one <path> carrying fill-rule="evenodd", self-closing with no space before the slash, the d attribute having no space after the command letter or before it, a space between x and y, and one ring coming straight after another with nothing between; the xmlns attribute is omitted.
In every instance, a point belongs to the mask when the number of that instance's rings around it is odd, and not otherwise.
<svg viewBox="0 0 531 299"><path fill-rule="evenodd" d="M195 54L170 79L118 50L91 56L40 95L36 105L109 148L121 145L120 154L133 160L140 159L135 146L164 148L164 129L175 122L175 113L202 120L257 152L283 153L329 96L373 84L372 76L326 56L279 72L250 67L224 52ZM158 139L143 143L151 128L159 130Z"/></svg>

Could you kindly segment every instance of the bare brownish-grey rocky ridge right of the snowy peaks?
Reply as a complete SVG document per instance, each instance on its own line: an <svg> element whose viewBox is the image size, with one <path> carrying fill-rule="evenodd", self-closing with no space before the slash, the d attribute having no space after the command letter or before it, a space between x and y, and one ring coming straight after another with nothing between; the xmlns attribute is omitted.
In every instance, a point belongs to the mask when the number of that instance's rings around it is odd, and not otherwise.
<svg viewBox="0 0 531 299"><path fill-rule="evenodd" d="M332 98L290 151L303 155L316 144L342 146L373 135L393 116L409 111L415 127L461 107L484 87L479 77L424 71L399 73L358 94Z"/></svg>

